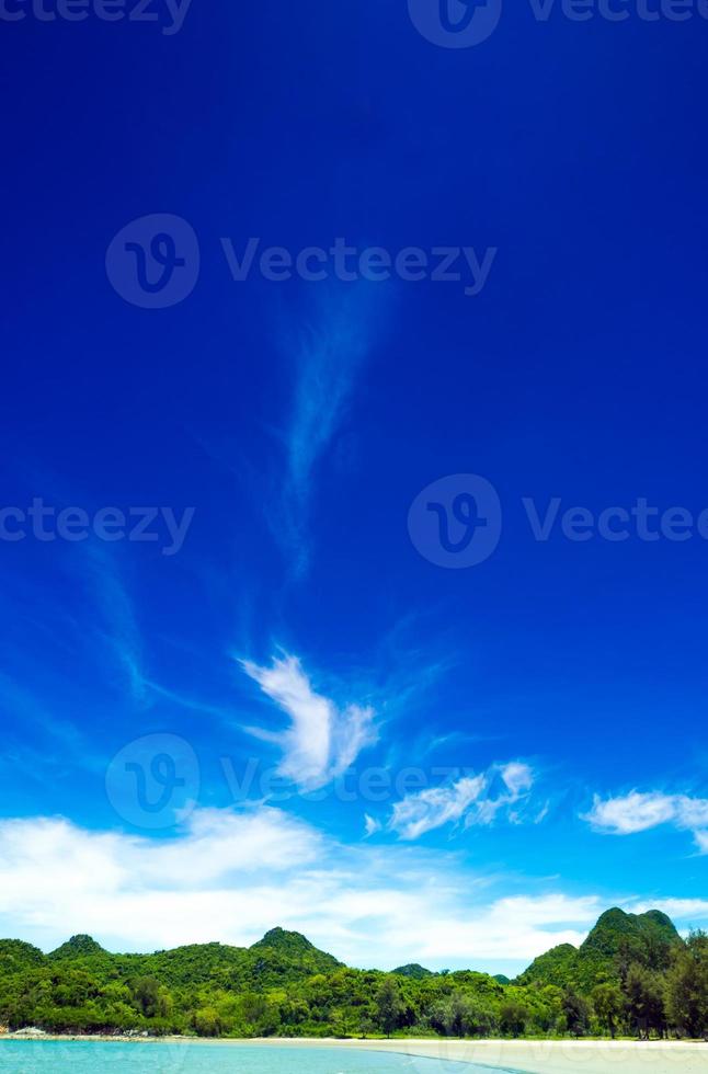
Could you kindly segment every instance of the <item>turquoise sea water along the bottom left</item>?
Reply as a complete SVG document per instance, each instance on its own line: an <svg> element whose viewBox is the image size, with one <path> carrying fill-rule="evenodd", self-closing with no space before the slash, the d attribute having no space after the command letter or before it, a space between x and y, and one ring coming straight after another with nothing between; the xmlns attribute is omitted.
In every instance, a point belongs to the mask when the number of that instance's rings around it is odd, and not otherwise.
<svg viewBox="0 0 708 1074"><path fill-rule="evenodd" d="M434 1059L338 1048L250 1048L92 1041L0 1042L0 1071L13 1074L492 1074ZM498 1072L500 1074L500 1072ZM506 1072L507 1074L507 1072Z"/></svg>

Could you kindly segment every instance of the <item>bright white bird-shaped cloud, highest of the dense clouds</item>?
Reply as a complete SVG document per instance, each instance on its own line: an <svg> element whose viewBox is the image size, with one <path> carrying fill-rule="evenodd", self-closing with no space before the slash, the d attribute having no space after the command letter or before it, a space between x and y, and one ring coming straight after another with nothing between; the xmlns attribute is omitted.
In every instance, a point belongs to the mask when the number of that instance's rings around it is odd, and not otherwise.
<svg viewBox="0 0 708 1074"><path fill-rule="evenodd" d="M302 790L317 790L341 776L366 746L377 740L374 710L340 709L312 689L296 656L275 658L270 667L242 661L245 673L290 718L285 731L248 728L251 734L283 750L278 773Z"/></svg>

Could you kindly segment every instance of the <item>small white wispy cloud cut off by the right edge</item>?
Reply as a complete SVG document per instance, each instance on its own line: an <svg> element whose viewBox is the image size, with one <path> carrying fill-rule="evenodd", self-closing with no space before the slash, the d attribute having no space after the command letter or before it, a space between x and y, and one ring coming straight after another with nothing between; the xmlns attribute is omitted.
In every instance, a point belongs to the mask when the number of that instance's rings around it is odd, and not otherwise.
<svg viewBox="0 0 708 1074"><path fill-rule="evenodd" d="M693 832L703 854L708 854L708 799L662 791L602 799L595 796L593 808L582 815L596 832L604 835L635 835L662 824L682 832Z"/></svg>

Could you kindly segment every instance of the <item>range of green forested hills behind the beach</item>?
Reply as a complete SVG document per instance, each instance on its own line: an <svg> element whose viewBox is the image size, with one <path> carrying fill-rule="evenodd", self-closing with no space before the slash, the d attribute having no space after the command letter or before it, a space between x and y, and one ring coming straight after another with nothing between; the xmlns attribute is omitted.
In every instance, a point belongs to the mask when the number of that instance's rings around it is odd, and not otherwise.
<svg viewBox="0 0 708 1074"><path fill-rule="evenodd" d="M472 970L353 970L299 933L250 948L112 955L75 936L49 955L0 941L0 1022L55 1032L196 1036L708 1035L708 938L610 910L580 948L516 980Z"/></svg>

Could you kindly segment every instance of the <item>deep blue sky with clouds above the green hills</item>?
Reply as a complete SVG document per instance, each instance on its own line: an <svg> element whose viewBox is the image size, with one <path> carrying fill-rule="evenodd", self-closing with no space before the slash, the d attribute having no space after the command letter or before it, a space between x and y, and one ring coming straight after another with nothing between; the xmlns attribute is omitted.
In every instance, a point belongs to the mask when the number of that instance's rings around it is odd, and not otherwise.
<svg viewBox="0 0 708 1074"><path fill-rule="evenodd" d="M0 932L513 972L705 924L708 23L163 26L3 27ZM155 214L199 256L158 309L106 272ZM253 238L426 278L235 279Z"/></svg>

